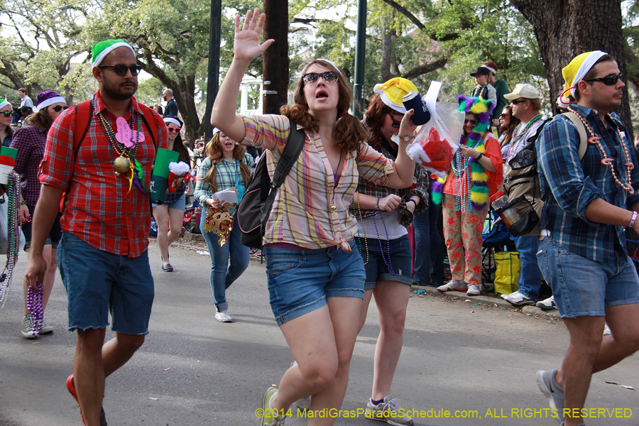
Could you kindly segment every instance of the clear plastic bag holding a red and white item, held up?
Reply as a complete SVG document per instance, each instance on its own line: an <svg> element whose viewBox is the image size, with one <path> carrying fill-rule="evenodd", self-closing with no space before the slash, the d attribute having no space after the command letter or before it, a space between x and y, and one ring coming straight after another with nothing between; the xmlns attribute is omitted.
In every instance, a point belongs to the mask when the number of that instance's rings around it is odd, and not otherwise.
<svg viewBox="0 0 639 426"><path fill-rule="evenodd" d="M408 156L427 170L444 178L459 148L466 114L454 102L437 102L440 82L431 82L425 96L430 121L420 127L415 141L406 148Z"/></svg>

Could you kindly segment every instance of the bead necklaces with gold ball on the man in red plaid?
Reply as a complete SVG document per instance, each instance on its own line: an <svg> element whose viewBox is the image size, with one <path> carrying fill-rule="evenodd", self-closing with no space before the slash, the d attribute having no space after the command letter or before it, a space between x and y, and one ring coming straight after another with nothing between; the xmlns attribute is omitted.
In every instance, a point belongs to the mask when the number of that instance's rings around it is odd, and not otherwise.
<svg viewBox="0 0 639 426"><path fill-rule="evenodd" d="M93 95L93 99L91 102L93 103L94 111L97 111L97 109L95 108L95 94ZM138 162L138 160L136 160L136 154L138 153L138 146L140 142L141 120L140 115L136 114L136 111L133 109L133 103L131 103L131 109L129 110L129 121L127 122L128 126L131 128L129 146L126 146L124 143L120 143L120 141L118 141L118 138L116 138L116 135L113 133L111 125L102 115L102 111L97 111L96 116L98 118L100 127L102 128L102 131L107 136L107 140L109 141L109 143L111 143L114 151L116 151L116 153L118 154L118 157L113 162L115 175L119 176L121 174L125 174L126 179L129 180L129 192L131 192L131 186L133 185L133 182L135 182L138 190L146 195L142 165ZM133 126L134 124L135 126ZM135 141L133 141L133 135L135 135ZM144 140L144 138L142 138L142 140ZM133 148L133 151L131 151L131 148ZM131 173L130 175L129 172Z"/></svg>

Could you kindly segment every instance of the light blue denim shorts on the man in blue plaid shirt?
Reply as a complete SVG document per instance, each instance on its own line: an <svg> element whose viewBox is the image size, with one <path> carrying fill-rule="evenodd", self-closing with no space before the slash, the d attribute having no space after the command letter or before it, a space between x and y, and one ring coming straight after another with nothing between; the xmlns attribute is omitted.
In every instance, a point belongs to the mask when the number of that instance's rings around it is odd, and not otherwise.
<svg viewBox="0 0 639 426"><path fill-rule="evenodd" d="M625 254L615 263L591 261L546 236L537 262L562 318L604 317L608 306L639 303L639 277Z"/></svg>

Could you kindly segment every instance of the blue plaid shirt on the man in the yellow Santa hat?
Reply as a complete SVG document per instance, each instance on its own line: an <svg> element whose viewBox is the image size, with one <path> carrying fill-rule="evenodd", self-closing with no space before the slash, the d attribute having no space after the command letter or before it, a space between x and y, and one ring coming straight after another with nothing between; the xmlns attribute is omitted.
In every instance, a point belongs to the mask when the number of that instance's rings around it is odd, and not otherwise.
<svg viewBox="0 0 639 426"><path fill-rule="evenodd" d="M614 159L615 173L622 183L628 182L626 155L623 153L617 129L626 143L630 161L635 165L635 153L628 133L616 114L603 126L594 109L572 105L591 126L600 140L606 156ZM552 238L566 250L584 258L614 263L616 254L625 256L624 226L600 224L586 219L586 207L595 198L628 209L639 202L639 167L631 172L635 194L621 189L611 175L611 168L601 164L599 148L589 143L584 158L579 161L579 133L572 121L558 114L550 121L537 143L539 178L542 194L550 192L542 210L540 226L550 231Z"/></svg>

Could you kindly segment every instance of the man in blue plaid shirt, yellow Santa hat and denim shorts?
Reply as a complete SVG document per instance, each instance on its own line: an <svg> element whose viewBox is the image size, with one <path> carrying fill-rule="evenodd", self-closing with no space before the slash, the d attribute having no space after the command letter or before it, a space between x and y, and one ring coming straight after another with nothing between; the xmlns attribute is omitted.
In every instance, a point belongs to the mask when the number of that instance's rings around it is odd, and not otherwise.
<svg viewBox="0 0 639 426"><path fill-rule="evenodd" d="M639 278L624 235L626 227L639 232L639 168L626 128L612 113L625 85L617 62L597 50L577 56L562 73L559 101L581 123L555 116L536 147L545 198L537 260L570 345L561 368L537 371L537 384L565 418L562 425L576 426L584 425L580 410L592 373L639 349ZM589 138L581 160L579 130ZM602 337L605 322L612 334Z"/></svg>

